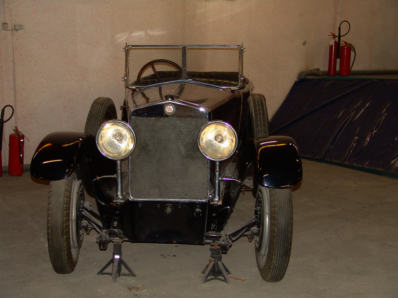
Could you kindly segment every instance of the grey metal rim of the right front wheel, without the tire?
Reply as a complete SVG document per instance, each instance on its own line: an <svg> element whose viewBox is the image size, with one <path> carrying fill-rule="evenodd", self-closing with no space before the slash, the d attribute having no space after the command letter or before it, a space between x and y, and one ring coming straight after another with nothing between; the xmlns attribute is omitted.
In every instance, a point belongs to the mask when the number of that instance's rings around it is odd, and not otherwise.
<svg viewBox="0 0 398 298"><path fill-rule="evenodd" d="M263 263L267 259L269 243L269 190L260 187L256 197L256 215L258 216L258 235L254 238L256 253Z"/></svg>

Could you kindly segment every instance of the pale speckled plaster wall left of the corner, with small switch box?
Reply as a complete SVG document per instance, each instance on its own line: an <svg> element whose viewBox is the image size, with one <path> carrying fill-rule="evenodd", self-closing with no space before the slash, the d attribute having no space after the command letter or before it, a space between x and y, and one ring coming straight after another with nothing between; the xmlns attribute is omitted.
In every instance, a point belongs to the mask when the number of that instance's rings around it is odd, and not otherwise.
<svg viewBox="0 0 398 298"><path fill-rule="evenodd" d="M97 97L113 99L120 116L123 46L181 43L183 21L176 20L184 19L184 6L184 0L2 0L1 23L24 25L21 31L0 30L0 105L16 109L4 126L3 165L12 126L29 139L29 164L45 135L83 131Z"/></svg>

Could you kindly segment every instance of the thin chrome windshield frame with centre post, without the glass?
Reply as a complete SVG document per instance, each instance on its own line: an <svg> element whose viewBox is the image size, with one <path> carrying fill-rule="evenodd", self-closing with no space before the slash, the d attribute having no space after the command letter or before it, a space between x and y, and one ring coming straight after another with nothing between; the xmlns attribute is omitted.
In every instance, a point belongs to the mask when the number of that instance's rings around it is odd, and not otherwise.
<svg viewBox="0 0 398 298"><path fill-rule="evenodd" d="M204 48L213 48L213 47L219 47L219 48L230 48L230 47L235 47L239 49L239 60L238 60L238 75L239 75L239 82L238 85L236 86L218 86L218 85L213 85L209 83L204 83L200 81L193 81L190 79L185 78L184 79L184 74L186 77L187 73L187 60L186 60L186 49L191 48L191 47L204 47ZM181 48L181 55L182 55L182 78L177 79L177 80L171 80L171 81L166 81L166 82L160 82L156 84L151 84L151 85L131 85L129 84L129 61L130 61L130 48ZM209 87L217 87L220 89L240 89L243 85L243 43L242 45L127 45L123 48L125 51L125 73L123 76L123 79L125 80L125 86L126 88L129 89L137 89L137 88L147 88L147 87L156 87L160 85L166 84L173 84L173 83L191 83L191 84L198 84L198 85L206 85Z"/></svg>

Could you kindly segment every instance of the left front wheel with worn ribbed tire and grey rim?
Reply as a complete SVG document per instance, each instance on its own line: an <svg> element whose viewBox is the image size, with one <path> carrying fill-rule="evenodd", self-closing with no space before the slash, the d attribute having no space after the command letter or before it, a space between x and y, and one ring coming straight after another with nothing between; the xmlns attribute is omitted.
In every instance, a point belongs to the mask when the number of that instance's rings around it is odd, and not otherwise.
<svg viewBox="0 0 398 298"><path fill-rule="evenodd" d="M60 274L71 273L76 267L84 236L84 190L76 171L66 179L50 183L47 240L51 264Z"/></svg>

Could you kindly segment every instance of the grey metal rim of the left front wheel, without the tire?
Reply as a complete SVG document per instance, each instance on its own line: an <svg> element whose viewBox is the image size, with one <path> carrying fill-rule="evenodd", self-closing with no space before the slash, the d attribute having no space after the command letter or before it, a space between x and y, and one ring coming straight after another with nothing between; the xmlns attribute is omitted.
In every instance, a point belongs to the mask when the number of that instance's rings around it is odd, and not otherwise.
<svg viewBox="0 0 398 298"><path fill-rule="evenodd" d="M84 229L81 226L82 217L80 212L84 203L84 190L82 180L78 180L74 174L72 192L70 195L70 248L75 255L82 246Z"/></svg>

